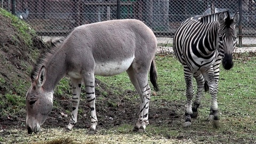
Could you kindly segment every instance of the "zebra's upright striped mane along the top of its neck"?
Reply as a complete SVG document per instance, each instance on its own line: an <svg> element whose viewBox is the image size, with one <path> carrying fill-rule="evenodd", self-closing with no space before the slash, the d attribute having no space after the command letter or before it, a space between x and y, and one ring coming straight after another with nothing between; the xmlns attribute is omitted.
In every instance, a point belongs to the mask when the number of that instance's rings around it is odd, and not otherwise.
<svg viewBox="0 0 256 144"><path fill-rule="evenodd" d="M220 13L224 14L224 19L230 20L229 11L219 12L219 13L214 13L214 14L209 14L209 15L203 15L203 16L196 16L193 19L197 19L202 23L210 23L210 22L218 21Z"/></svg>

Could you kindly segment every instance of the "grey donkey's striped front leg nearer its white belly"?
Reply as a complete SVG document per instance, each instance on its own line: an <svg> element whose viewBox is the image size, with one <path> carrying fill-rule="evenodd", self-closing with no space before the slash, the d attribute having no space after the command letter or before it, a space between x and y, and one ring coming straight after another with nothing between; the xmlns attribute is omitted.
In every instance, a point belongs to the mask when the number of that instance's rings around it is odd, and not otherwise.
<svg viewBox="0 0 256 144"><path fill-rule="evenodd" d="M89 134L96 133L96 126L98 123L96 110L95 110L95 89L94 89L94 74L87 72L84 74L84 84L86 91L86 99L89 104L90 113L91 113L91 126L89 130Z"/></svg>

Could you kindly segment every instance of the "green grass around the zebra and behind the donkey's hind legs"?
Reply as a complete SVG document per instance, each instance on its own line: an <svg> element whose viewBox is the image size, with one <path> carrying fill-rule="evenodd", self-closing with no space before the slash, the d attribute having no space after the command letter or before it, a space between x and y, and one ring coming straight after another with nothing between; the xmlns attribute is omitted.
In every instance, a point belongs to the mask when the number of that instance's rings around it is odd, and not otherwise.
<svg viewBox="0 0 256 144"><path fill-rule="evenodd" d="M174 55L158 55L156 57L156 65L158 68L158 85L161 91L156 92L156 97L151 97L150 107L164 108L168 107L168 105L163 105L163 101L169 101L170 103L178 101L183 106L179 114L184 114L186 86L181 64ZM151 133L152 137L153 135L163 134L168 138L183 139L189 137L195 141L209 143L212 143L212 141L224 143L237 142L236 140L244 140L244 143L255 141L255 67L256 57L253 53L235 54L234 67L231 70L224 70L221 66L218 93L221 117L220 129L214 129L212 124L206 121L211 106L210 94L206 93L202 97L199 116L197 119L193 119L191 127L183 128L184 118L180 116L178 120L173 122L176 124L172 126L166 123L160 126L150 123L147 131ZM121 87L123 90L134 90L126 73L114 77L101 77L100 80L108 85ZM118 126L113 129L117 129L122 133L126 131L130 133L128 130L132 126L124 127L127 126Z"/></svg>

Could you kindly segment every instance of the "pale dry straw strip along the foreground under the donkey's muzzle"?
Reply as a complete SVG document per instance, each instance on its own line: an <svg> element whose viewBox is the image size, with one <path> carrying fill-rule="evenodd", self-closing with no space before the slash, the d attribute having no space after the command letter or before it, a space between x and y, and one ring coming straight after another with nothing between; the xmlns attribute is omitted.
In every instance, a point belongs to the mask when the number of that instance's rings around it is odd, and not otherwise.
<svg viewBox="0 0 256 144"><path fill-rule="evenodd" d="M10 130L4 137L6 143L33 143L33 144L100 144L100 143L194 143L191 140L166 139L159 135L149 136L147 133L119 133L101 130L98 134L87 134L86 129L76 129L66 132L62 128L42 129L38 134L28 135L25 130Z"/></svg>

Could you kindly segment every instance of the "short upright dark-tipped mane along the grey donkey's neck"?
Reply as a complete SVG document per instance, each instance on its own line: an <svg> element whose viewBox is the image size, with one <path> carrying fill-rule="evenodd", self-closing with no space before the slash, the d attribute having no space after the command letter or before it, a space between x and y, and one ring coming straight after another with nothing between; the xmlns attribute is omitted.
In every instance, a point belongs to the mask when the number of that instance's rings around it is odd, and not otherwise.
<svg viewBox="0 0 256 144"><path fill-rule="evenodd" d="M41 70L42 66L45 66L48 62L48 60L54 55L60 48L60 45L63 42L63 38L58 39L57 41L53 42L47 42L50 46L48 46L46 49L43 50L42 53L40 53L39 57L37 58L37 61L34 65L33 70L30 73L30 78L32 82L35 81L39 71Z"/></svg>

